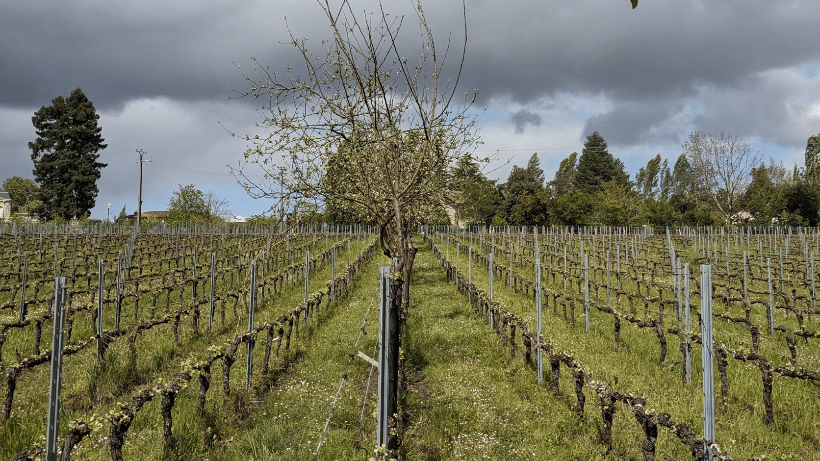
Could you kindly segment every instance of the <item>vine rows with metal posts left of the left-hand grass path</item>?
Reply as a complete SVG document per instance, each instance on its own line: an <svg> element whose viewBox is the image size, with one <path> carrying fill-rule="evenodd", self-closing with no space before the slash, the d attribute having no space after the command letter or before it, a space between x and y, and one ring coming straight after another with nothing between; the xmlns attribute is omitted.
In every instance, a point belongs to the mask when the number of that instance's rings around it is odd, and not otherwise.
<svg viewBox="0 0 820 461"><path fill-rule="evenodd" d="M248 399L264 395L265 383L294 361L292 341L344 295L374 248L370 235L350 230L21 233L2 241L3 459L35 457L43 445L55 379L48 368L54 275L67 279L61 459L133 459L145 447L124 441L147 429L139 416L152 400L165 445L175 445L175 424L190 423L174 413L251 411ZM235 363L244 365L241 380ZM194 383L196 398L177 402ZM221 441L215 425L206 431L213 434L205 442Z"/></svg>

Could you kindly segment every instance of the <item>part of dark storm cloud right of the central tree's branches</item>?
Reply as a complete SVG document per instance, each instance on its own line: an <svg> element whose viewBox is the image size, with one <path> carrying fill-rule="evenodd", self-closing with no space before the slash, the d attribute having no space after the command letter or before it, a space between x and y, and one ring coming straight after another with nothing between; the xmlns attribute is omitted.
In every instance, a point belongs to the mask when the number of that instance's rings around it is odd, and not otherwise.
<svg viewBox="0 0 820 461"><path fill-rule="evenodd" d="M812 2L623 3L499 2L482 14L488 4L475 2L470 80L522 101L556 91L651 100L820 57Z"/></svg>

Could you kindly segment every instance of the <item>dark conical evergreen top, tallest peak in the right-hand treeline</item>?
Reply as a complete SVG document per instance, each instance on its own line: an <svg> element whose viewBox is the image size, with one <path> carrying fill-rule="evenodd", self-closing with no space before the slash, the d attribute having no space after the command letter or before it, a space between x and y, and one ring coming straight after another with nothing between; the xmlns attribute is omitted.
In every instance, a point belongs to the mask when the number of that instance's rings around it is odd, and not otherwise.
<svg viewBox="0 0 820 461"><path fill-rule="evenodd" d="M609 153L604 137L595 131L586 137L581 159L578 161L575 186L585 194L596 194L609 181L627 187L629 174L624 171L623 162Z"/></svg>

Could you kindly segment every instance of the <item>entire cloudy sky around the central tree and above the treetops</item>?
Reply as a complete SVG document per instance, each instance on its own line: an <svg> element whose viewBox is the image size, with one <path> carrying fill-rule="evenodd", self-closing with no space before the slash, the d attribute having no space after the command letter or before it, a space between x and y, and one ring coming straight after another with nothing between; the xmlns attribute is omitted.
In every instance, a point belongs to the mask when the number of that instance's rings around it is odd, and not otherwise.
<svg viewBox="0 0 820 461"><path fill-rule="evenodd" d="M339 4L328 0L331 5ZM351 0L353 11L379 11ZM409 1L402 50L419 34ZM765 157L803 165L820 132L820 7L812 0L467 0L467 53L459 86L478 89L481 155L488 176L538 153L551 179L558 163L599 131L634 179L660 153L674 163L693 131L730 132ZM423 3L437 43L453 56L464 35L462 2ZM298 64L290 35L321 48L330 39L313 0L0 0L0 180L33 177L31 116L76 88L93 102L108 147L93 218L137 202L163 210L179 185L230 200L237 215L266 212L231 175L265 135L258 104L235 98L251 57L284 70Z"/></svg>

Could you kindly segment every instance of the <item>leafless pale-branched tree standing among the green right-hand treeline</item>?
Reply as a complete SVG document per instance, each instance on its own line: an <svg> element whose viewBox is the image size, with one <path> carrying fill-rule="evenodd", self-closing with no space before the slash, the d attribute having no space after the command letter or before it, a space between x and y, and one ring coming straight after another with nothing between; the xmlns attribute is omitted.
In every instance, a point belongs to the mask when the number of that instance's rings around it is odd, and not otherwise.
<svg viewBox="0 0 820 461"><path fill-rule="evenodd" d="M700 183L702 193L698 199L730 223L731 217L742 209L749 175L763 155L748 140L724 132L691 133L682 148Z"/></svg>

